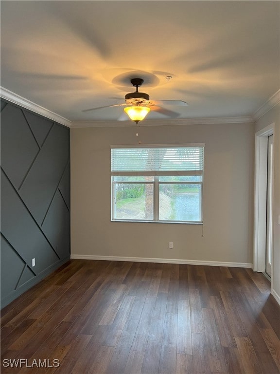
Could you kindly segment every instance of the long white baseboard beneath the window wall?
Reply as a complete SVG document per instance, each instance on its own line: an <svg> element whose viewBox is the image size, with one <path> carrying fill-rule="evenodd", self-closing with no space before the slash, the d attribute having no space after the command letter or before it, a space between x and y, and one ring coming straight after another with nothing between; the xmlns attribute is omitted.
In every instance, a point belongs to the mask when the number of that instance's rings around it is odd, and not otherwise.
<svg viewBox="0 0 280 374"><path fill-rule="evenodd" d="M71 259L76 259L76 260L128 261L128 262L160 262L160 263L179 263L179 264L184 264L184 265L207 265L207 266L228 266L228 267L247 267L247 268L251 268L253 266L252 263L245 263L245 262L153 259L153 258L149 258L149 257L96 256L96 255L75 255L75 254L71 255Z"/></svg>

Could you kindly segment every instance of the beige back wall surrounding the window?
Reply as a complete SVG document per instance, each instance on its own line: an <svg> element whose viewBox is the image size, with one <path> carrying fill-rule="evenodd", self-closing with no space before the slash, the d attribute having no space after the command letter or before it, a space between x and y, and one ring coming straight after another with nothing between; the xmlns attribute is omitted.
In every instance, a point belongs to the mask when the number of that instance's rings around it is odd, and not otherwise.
<svg viewBox="0 0 280 374"><path fill-rule="evenodd" d="M110 222L110 145L136 129L71 129L71 253L252 263L254 125L143 126L142 144L205 143L202 225ZM174 249L168 249L174 242Z"/></svg>

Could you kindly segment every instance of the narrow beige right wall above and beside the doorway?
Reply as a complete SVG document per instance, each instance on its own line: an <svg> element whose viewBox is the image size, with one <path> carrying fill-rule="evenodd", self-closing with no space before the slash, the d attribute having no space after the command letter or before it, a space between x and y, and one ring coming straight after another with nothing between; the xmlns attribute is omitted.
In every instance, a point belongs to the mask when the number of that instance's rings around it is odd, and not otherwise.
<svg viewBox="0 0 280 374"><path fill-rule="evenodd" d="M275 124L274 134L274 233L273 233L273 269L272 269L272 284L273 289L280 296L280 225L278 224L278 216L280 215L280 104L273 107L269 112L265 113L255 123L255 132L258 132L269 126Z"/></svg>

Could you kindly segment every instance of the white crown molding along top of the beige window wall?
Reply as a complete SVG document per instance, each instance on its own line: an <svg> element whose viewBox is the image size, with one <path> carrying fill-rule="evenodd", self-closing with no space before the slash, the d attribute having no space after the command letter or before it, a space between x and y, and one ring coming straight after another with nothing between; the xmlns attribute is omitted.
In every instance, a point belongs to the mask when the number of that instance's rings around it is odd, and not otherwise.
<svg viewBox="0 0 280 374"><path fill-rule="evenodd" d="M253 123L251 116L244 117L206 117L206 118L176 118L176 119L160 119L160 120L145 120L141 122L141 127L144 126L174 126L174 125L217 125L230 123ZM132 121L84 121L71 122L71 127L86 128L86 127L131 127ZM134 125L135 126L135 125Z"/></svg>

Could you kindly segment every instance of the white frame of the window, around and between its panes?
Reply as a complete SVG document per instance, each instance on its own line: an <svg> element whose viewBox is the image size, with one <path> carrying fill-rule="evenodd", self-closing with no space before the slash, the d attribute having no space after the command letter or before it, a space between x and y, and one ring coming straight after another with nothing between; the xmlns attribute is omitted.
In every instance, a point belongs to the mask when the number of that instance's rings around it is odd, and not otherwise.
<svg viewBox="0 0 280 374"><path fill-rule="evenodd" d="M168 145L123 145L123 146L111 146L111 150L115 148L121 149L132 149L132 148L203 148L202 150L202 170L199 172L197 170L185 170L185 171L122 171L113 173L111 167L111 222L138 222L138 223L172 223L172 224L203 224L203 174L204 174L204 143L192 143L192 144L168 144ZM154 181L114 181L114 176L153 176ZM172 182L164 182L159 181L160 176L201 176L201 181L172 181ZM116 185L122 184L153 184L153 216L154 218L151 219L120 219L116 218ZM176 221L176 220L160 220L159 219L159 187L160 185L199 185L199 212L200 212L200 221Z"/></svg>

